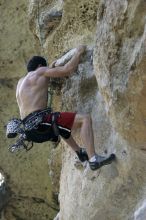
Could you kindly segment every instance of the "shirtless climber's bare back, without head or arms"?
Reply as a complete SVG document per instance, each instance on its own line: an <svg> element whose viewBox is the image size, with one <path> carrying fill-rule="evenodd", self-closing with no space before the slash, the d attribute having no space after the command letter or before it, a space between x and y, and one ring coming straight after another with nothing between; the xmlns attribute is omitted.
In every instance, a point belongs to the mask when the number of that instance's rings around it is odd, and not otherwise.
<svg viewBox="0 0 146 220"><path fill-rule="evenodd" d="M21 78L17 85L16 98L21 119L31 112L47 107L49 78L38 74L37 70Z"/></svg>

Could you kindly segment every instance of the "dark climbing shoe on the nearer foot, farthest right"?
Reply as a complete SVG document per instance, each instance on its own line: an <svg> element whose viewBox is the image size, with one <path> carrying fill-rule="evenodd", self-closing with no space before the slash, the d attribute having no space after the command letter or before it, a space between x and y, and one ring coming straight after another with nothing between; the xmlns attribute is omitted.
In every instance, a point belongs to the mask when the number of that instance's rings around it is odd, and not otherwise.
<svg viewBox="0 0 146 220"><path fill-rule="evenodd" d="M103 157L99 155L95 155L95 161L90 162L89 166L91 170L97 170L104 165L111 164L115 160L115 154L111 154L109 157Z"/></svg>

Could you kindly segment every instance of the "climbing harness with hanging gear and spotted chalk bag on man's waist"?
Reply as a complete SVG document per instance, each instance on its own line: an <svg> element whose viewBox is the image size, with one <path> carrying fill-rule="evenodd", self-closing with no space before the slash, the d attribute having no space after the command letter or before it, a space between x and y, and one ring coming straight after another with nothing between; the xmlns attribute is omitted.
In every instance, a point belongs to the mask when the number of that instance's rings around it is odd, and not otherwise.
<svg viewBox="0 0 146 220"><path fill-rule="evenodd" d="M46 135L47 138L43 138L43 131L38 132L37 135L40 135L38 137L38 140L32 139L30 133L32 131L37 132L37 129L40 125L43 126L43 118L44 116L51 114L52 120L50 124L50 130L47 129ZM11 119L7 125L6 125L6 136L7 138L15 138L19 134L19 138L15 142L15 144L9 146L10 152L16 152L20 149L25 149L26 151L29 151L33 147L33 142L36 143L42 143L44 141L48 141L49 138L49 132L52 132L52 139L50 138L50 141L58 142L59 141L59 129L56 124L56 120L59 117L59 112L52 112L52 109L50 107L44 109L35 111L33 113L30 113L28 116L26 116L23 120L13 118ZM41 138L42 137L42 138Z"/></svg>

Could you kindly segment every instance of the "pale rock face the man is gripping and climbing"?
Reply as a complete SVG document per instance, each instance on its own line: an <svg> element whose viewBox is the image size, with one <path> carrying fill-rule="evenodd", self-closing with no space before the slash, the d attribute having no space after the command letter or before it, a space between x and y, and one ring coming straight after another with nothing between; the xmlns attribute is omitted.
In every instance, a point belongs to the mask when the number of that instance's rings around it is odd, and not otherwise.
<svg viewBox="0 0 146 220"><path fill-rule="evenodd" d="M101 154L115 152L117 161L96 172L91 172L88 166L78 170L75 154L64 148L57 219L143 220L146 3L92 1L89 8L94 5L97 11L97 25L90 17L93 25L90 34L87 20L77 27L75 17L69 25L73 16L70 12L73 14L74 9L74 14L79 15L79 24L83 21L80 4L64 2L60 25L43 45L50 57L54 55L52 45L57 56L77 42L93 46L93 63L91 47L88 48L90 55L82 60L77 73L65 82L63 110L90 113L96 151ZM82 18L85 19L85 15ZM79 135L76 138L82 145Z"/></svg>

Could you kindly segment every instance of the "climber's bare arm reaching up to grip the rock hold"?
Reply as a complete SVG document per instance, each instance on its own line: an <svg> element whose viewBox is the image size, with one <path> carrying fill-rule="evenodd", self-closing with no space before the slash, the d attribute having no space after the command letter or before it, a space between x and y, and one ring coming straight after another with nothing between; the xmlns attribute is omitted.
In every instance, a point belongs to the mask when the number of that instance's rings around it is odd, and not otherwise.
<svg viewBox="0 0 146 220"><path fill-rule="evenodd" d="M54 67L51 69L47 67L42 67L44 72L43 75L46 77L54 78L60 78L71 75L76 70L80 61L80 57L84 53L85 49L85 46L79 46L75 55L64 66Z"/></svg>

